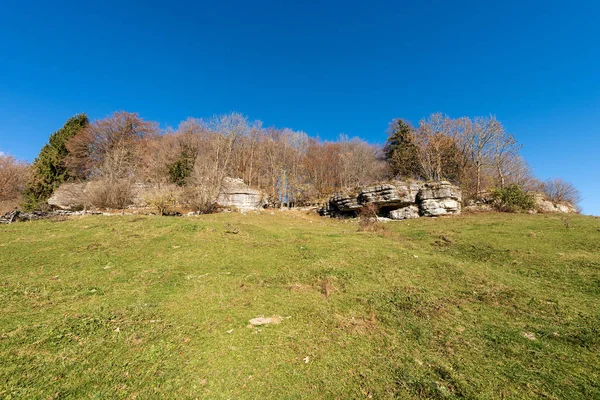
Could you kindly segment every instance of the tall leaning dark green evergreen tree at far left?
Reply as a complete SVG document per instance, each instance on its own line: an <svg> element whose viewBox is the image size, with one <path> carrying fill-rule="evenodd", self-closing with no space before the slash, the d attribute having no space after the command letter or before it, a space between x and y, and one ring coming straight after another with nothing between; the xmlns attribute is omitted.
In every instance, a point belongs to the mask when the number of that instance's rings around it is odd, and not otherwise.
<svg viewBox="0 0 600 400"><path fill-rule="evenodd" d="M78 114L69 118L61 129L50 135L48 143L33 162L31 183L25 191L25 209L39 209L54 190L69 179L64 162L68 154L66 143L88 124L88 117Z"/></svg>

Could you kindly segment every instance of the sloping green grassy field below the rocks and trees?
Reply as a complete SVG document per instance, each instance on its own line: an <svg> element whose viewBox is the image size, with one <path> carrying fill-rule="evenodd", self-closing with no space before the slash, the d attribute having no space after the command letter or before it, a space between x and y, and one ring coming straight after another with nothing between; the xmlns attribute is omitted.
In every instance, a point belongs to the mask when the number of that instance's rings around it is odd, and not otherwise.
<svg viewBox="0 0 600 400"><path fill-rule="evenodd" d="M600 398L598 218L81 217L0 271L3 399Z"/></svg>

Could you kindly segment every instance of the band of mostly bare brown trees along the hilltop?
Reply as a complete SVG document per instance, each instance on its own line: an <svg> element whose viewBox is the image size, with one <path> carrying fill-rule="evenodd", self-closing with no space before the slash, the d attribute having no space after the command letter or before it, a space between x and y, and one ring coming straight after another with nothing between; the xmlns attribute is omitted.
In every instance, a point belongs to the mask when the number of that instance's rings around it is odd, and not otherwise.
<svg viewBox="0 0 600 400"><path fill-rule="evenodd" d="M263 190L272 206L319 204L333 193L394 179L449 180L467 200L515 185L547 191L556 201L578 200L568 182L539 182L521 145L493 116L436 113L417 126L395 119L388 135L383 146L345 135L324 141L238 113L163 130L135 113L93 122L80 114L50 135L31 165L0 157L0 202L24 198L25 208L43 208L62 183L86 181L94 183L96 207L124 208L134 186L146 184L156 196L210 211L226 177Z"/></svg>

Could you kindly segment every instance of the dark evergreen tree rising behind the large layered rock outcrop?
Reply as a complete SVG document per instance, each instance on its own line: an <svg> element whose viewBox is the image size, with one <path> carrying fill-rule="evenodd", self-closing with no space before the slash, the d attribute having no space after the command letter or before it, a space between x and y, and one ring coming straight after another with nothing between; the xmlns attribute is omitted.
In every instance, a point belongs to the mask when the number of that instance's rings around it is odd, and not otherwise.
<svg viewBox="0 0 600 400"><path fill-rule="evenodd" d="M415 130L403 119L394 120L390 125L390 136L383 151L394 177L421 176Z"/></svg>

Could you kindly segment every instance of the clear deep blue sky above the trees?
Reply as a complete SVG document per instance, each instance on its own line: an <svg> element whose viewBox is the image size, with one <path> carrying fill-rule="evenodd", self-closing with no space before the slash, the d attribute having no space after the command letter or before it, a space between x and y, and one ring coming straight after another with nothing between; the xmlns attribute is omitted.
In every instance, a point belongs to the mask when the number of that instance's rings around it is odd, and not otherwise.
<svg viewBox="0 0 600 400"><path fill-rule="evenodd" d="M4 0L0 151L32 160L79 112L238 111L374 143L395 117L494 114L600 215L599 21L597 0Z"/></svg>

